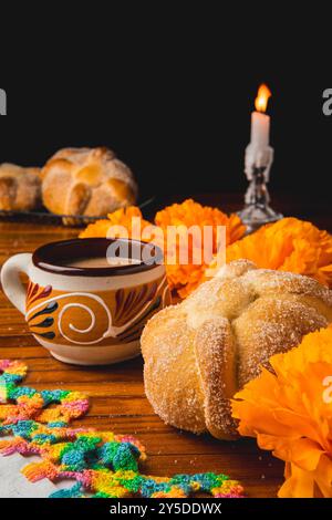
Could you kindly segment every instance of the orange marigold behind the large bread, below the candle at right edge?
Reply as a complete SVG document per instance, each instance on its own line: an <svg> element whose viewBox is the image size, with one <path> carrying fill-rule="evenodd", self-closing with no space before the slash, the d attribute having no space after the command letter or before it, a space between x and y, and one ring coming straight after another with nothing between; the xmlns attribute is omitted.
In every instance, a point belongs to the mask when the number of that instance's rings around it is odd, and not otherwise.
<svg viewBox="0 0 332 520"><path fill-rule="evenodd" d="M291 271L332 287L332 236L311 222L283 218L227 248L226 260L252 260L259 268Z"/></svg>

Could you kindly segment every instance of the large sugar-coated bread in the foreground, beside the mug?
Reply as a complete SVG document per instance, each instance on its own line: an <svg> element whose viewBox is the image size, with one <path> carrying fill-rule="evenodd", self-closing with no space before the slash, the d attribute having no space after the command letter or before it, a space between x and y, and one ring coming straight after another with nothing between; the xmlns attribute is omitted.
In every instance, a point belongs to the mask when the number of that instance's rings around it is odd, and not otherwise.
<svg viewBox="0 0 332 520"><path fill-rule="evenodd" d="M332 291L315 280L257 269L247 260L231 262L146 324L147 398L167 424L235 438L235 393L261 366L270 368L271 355L331 321Z"/></svg>

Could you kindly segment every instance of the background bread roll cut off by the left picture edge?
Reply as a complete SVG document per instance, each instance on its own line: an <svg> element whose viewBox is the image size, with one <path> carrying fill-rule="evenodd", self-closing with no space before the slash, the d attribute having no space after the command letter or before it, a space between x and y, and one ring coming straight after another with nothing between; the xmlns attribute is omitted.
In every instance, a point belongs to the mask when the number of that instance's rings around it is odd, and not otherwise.
<svg viewBox="0 0 332 520"><path fill-rule="evenodd" d="M0 165L0 210L29 211L41 202L39 168L23 168L10 163Z"/></svg>

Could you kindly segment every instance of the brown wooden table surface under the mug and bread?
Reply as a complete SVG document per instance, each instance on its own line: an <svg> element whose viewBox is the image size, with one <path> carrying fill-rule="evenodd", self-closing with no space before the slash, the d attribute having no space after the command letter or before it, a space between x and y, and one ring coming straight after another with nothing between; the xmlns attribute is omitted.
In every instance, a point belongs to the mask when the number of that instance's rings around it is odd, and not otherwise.
<svg viewBox="0 0 332 520"><path fill-rule="evenodd" d="M197 197L222 208L239 207L239 197L218 199ZM284 204L287 207L284 207ZM277 205L284 212L310 218L331 231L332 219L326 210L320 211L299 204ZM288 211L286 210L288 209ZM290 211L291 210L291 211ZM77 229L24 222L0 222L0 262L15 253L33 251L42 243L77 235ZM21 358L29 366L24 382L38 389L68 388L82 391L91 398L87 416L76 424L136 435L145 445L147 461L144 472L172 476L180 472L226 472L239 479L249 497L276 497L282 482L283 464L256 447L252 439L226 443L210 436L195 436L166 426L153 412L144 394L143 361L105 367L80 367L54 360L38 345L28 332L23 316L0 293L0 357ZM1 460L0 460L1 464Z"/></svg>

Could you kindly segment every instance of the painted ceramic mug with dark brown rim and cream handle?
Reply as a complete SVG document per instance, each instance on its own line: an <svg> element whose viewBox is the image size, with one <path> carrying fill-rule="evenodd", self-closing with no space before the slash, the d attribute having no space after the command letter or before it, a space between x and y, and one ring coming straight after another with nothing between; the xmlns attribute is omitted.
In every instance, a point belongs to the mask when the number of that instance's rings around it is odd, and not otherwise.
<svg viewBox="0 0 332 520"><path fill-rule="evenodd" d="M69 260L106 258L114 242L106 238L50 242L33 254L11 257L2 267L4 293L24 314L35 340L60 361L96 365L138 355L144 324L170 303L162 251L154 245L116 241L137 263L68 266ZM28 274L27 290L20 272Z"/></svg>

